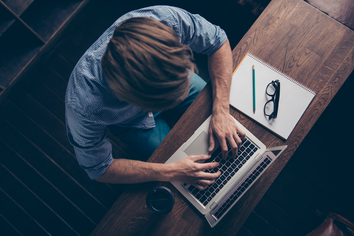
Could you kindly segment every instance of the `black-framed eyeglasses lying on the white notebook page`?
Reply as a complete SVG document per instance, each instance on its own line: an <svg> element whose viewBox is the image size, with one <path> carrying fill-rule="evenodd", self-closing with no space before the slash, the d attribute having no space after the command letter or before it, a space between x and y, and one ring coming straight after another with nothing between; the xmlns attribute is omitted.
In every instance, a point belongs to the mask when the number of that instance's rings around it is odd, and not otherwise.
<svg viewBox="0 0 354 236"><path fill-rule="evenodd" d="M268 96L271 96L268 102L264 105L264 114L269 116L269 120L272 118L276 118L278 114L278 105L279 105L279 95L280 95L280 82L277 79L276 81L272 81L267 85L267 89L265 89L265 93Z"/></svg>

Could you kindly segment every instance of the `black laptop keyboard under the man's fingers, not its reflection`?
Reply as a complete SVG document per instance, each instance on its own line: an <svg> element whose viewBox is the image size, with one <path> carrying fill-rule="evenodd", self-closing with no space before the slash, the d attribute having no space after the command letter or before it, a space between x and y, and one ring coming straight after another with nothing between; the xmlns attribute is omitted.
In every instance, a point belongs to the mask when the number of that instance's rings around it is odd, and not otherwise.
<svg viewBox="0 0 354 236"><path fill-rule="evenodd" d="M239 135L239 137L241 137ZM228 147L228 157L226 160L222 159L222 151L219 146L212 154L211 158L206 160L205 163L209 162L219 162L219 166L214 169L205 170L204 172L208 173L216 173L221 171L221 175L216 179L215 183L209 185L204 190L199 190L198 188L190 185L188 187L188 191L190 191L204 206L206 206L213 197L224 187L224 185L230 181L230 179L235 175L237 171L241 169L241 167L246 163L248 159L251 158L253 154L258 150L254 143L250 140L242 141L241 148L237 151L237 155L235 158L231 158L232 149L230 144L227 143ZM187 184L184 183L184 186Z"/></svg>

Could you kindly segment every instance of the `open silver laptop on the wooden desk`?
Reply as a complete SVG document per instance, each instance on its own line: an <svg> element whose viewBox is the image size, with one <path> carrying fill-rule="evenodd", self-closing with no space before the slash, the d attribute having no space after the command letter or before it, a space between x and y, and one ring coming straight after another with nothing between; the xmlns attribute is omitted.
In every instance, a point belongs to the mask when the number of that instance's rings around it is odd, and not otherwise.
<svg viewBox="0 0 354 236"><path fill-rule="evenodd" d="M213 228L287 146L266 148L250 131L234 119L236 125L246 133L246 139L242 141L242 146L235 159L231 158L232 150L228 144L229 154L227 159L223 160L219 143L217 143L213 152L208 152L210 119L211 116L205 120L187 142L178 148L166 163L174 163L189 155L201 154L211 154L211 158L205 162L219 162L218 167L205 170L205 172L221 171L222 173L216 179L216 182L209 185L205 190L199 190L193 185L179 181L171 182L205 215Z"/></svg>

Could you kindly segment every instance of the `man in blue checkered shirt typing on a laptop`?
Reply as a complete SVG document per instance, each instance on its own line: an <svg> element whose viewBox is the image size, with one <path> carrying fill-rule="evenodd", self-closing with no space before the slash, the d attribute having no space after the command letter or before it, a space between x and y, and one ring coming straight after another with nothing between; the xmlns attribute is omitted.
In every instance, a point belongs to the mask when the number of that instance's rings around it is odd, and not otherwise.
<svg viewBox="0 0 354 236"><path fill-rule="evenodd" d="M196 163L210 158L207 155L172 164L113 159L106 132L108 127L147 158L153 153L170 130L160 111L183 113L205 85L194 73L189 48L209 55L213 90L209 151L218 138L223 158L227 141L235 157L245 133L229 115L232 54L224 31L180 8L147 7L120 17L86 51L70 76L65 96L68 138L91 179L178 180L199 189L215 182L220 172L204 170L218 163Z"/></svg>

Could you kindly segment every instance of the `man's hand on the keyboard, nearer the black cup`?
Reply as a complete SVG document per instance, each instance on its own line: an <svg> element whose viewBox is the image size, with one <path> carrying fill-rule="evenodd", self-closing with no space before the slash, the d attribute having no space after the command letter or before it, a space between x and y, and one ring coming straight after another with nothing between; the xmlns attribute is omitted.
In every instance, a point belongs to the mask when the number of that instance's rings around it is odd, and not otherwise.
<svg viewBox="0 0 354 236"><path fill-rule="evenodd" d="M207 160L210 155L189 156L173 163L172 180L181 181L186 184L192 184L200 190L206 189L208 185L215 182L215 178L221 175L221 172L206 173L204 170L213 169L219 166L218 162L196 163L197 161Z"/></svg>

